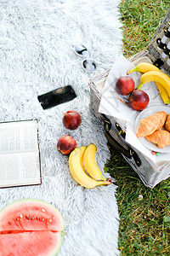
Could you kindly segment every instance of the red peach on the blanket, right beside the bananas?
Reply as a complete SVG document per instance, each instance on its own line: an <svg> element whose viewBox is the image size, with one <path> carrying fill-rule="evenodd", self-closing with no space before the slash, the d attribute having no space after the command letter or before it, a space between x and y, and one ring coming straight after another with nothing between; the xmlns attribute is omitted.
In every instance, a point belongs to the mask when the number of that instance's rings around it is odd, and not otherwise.
<svg viewBox="0 0 170 256"><path fill-rule="evenodd" d="M77 148L77 142L73 137L64 135L59 138L57 148L62 154L70 154L74 148Z"/></svg>

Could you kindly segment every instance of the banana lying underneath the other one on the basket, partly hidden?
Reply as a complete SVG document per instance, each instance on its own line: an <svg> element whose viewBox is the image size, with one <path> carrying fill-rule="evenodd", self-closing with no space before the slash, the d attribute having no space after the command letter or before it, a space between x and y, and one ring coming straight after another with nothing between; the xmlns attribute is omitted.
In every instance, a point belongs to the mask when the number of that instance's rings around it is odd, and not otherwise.
<svg viewBox="0 0 170 256"><path fill-rule="evenodd" d="M127 74L133 73L133 72L146 73L149 71L160 71L161 72L161 70L158 67L156 67L155 65L147 63L147 62L142 62L142 63L139 63L139 65L137 65L136 67L129 69L127 71ZM156 86L157 86L157 89L159 90L162 101L165 104L169 104L170 97L167 94L167 90L161 84L159 84L157 82L156 82Z"/></svg>

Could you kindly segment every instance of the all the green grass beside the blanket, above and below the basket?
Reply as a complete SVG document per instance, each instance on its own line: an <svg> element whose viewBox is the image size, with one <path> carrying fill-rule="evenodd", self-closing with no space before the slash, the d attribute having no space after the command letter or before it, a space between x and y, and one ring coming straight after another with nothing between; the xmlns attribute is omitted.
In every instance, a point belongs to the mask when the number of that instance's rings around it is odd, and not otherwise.
<svg viewBox="0 0 170 256"><path fill-rule="evenodd" d="M169 0L122 0L125 57L147 48L168 8ZM121 255L170 255L170 178L153 189L145 187L122 155L108 146L111 160L105 171L117 184Z"/></svg>

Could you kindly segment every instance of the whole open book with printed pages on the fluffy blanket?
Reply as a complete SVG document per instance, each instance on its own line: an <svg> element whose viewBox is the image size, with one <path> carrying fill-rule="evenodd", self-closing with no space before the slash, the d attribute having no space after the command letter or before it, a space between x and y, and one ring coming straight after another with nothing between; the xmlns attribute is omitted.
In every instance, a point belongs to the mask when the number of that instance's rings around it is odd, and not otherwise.
<svg viewBox="0 0 170 256"><path fill-rule="evenodd" d="M40 183L37 120L0 123L0 188Z"/></svg>

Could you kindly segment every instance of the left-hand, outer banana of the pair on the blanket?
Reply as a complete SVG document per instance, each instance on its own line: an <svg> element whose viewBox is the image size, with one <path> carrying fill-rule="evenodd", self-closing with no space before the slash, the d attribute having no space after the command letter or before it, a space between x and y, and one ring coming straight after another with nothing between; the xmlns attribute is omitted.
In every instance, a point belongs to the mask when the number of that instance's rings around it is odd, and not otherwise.
<svg viewBox="0 0 170 256"><path fill-rule="evenodd" d="M86 150L85 146L81 148L75 148L69 156L69 168L71 171L71 176L85 188L93 189L99 185L109 185L111 184L110 180L106 181L97 181L92 177L89 177L88 174L84 171L82 167L83 154Z"/></svg>

